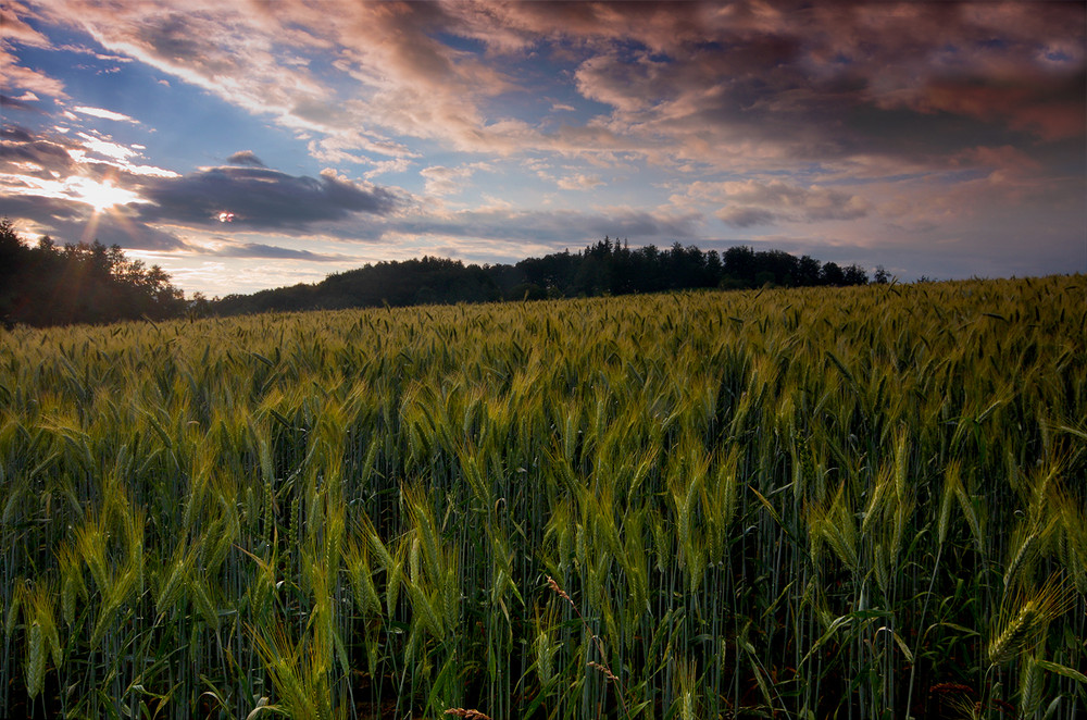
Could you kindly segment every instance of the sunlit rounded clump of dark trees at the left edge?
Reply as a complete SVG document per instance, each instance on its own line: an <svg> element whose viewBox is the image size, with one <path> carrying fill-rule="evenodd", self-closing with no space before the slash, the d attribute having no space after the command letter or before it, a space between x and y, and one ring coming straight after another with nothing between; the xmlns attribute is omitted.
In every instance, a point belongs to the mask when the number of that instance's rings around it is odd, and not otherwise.
<svg viewBox="0 0 1087 720"><path fill-rule="evenodd" d="M34 247L0 220L0 319L35 326L165 320L189 307L159 265L132 260L99 241Z"/></svg>

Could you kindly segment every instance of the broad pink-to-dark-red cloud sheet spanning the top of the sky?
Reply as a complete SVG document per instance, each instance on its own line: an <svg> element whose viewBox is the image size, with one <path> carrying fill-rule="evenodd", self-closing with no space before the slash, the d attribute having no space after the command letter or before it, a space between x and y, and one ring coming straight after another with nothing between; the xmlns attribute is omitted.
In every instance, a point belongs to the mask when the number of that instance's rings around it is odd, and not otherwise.
<svg viewBox="0 0 1087 720"><path fill-rule="evenodd" d="M625 151L744 170L919 152L936 163L1015 134L1083 136L1082 3L983 12L971 3L280 0L183 13L164 2L52 0L41 12L78 22L114 53L316 134L311 154L327 164L410 157L398 138L492 156ZM330 64L311 62L318 55ZM496 113L496 98L537 91L540 67L573 79L577 105L610 110L554 132ZM1005 82L1012 90L1000 89ZM552 112L575 108L548 102Z"/></svg>

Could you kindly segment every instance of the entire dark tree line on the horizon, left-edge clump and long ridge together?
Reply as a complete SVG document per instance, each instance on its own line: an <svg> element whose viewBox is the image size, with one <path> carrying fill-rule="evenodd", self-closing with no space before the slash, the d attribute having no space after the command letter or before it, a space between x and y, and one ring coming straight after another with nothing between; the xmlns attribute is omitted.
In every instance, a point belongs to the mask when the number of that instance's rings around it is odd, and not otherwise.
<svg viewBox="0 0 1087 720"><path fill-rule="evenodd" d="M874 280L887 282L888 275L879 269ZM96 240L59 247L43 236L32 247L10 220L0 220L0 319L9 326L867 282L860 265L841 268L782 250L739 246L703 252L679 243L667 249L632 249L625 240L604 237L578 252L564 250L516 264L464 264L424 256L334 273L315 284L214 300L197 293L187 300L162 268L132 260L116 245Z"/></svg>

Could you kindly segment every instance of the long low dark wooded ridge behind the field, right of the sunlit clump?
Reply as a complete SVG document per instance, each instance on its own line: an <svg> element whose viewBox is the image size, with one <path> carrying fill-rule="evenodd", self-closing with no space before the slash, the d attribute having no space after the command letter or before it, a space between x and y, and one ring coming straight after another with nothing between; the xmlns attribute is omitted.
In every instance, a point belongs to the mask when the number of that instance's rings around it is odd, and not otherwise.
<svg viewBox="0 0 1087 720"><path fill-rule="evenodd" d="M888 274L879 269L875 282ZM516 264L464 264L433 258L378 262L335 273L316 284L299 284L228 295L208 309L215 314L426 303L539 300L662 293L667 290L742 289L864 285L867 273L857 264L841 268L811 256L747 246L703 252L675 243L632 249L626 241L604 237L578 252L554 252Z"/></svg>

